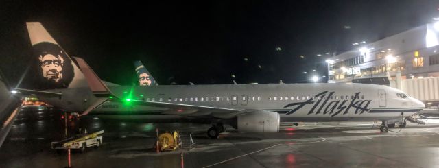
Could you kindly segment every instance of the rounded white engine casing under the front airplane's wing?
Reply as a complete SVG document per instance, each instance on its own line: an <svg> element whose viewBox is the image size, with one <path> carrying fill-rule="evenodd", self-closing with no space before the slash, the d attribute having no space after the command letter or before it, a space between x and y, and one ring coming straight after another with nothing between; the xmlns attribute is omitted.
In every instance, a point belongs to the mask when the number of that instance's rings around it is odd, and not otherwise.
<svg viewBox="0 0 439 168"><path fill-rule="evenodd" d="M248 112L237 117L239 132L278 132L281 117L277 112Z"/></svg>

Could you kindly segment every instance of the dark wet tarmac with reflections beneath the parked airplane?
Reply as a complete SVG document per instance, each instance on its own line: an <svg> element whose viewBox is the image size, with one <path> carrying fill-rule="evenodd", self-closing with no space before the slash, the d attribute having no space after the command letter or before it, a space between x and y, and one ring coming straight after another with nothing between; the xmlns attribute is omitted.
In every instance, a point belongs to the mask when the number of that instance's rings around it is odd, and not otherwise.
<svg viewBox="0 0 439 168"><path fill-rule="evenodd" d="M50 149L52 141L64 138L60 114L59 110L22 110L0 148L0 167L67 166L67 154ZM387 134L381 134L373 122L283 123L277 133L228 128L219 139L206 138L210 125L195 123L88 116L67 125L68 134L79 128L105 130L101 147L73 152L73 167L439 167L438 123L410 123ZM180 130L183 149L154 152L156 128ZM189 134L196 143L193 148Z"/></svg>

